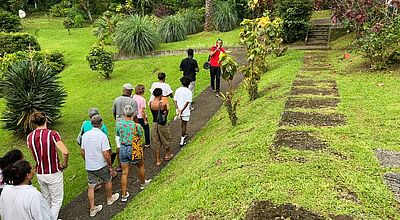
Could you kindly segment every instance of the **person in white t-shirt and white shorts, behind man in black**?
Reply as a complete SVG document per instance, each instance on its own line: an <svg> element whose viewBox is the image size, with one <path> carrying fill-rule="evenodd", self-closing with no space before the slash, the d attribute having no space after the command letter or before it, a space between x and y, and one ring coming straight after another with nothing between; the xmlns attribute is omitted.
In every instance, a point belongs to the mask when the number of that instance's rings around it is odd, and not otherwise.
<svg viewBox="0 0 400 220"><path fill-rule="evenodd" d="M182 128L182 135L181 135L181 142L179 145L181 147L185 146L185 138L187 137L186 128L187 123L190 119L190 109L189 105L192 102L193 94L192 91L188 88L190 85L190 79L186 76L181 78L182 86L179 87L175 92L174 103L176 107L176 114L182 120L181 128Z"/></svg>

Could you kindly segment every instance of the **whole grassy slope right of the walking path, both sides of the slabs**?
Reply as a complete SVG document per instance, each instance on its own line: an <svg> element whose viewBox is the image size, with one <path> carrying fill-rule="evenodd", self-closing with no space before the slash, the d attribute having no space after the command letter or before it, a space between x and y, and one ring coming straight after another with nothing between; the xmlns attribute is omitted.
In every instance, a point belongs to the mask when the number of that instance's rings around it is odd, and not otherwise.
<svg viewBox="0 0 400 220"><path fill-rule="evenodd" d="M221 110L115 219L242 219L252 201L267 199L324 216L399 219L383 174L400 169L381 168L373 150L399 150L400 71L369 72L357 54L342 60L346 38L333 42L334 50L328 52L334 71L305 74L337 81L341 103L322 112L345 114L347 125L288 128L316 131L329 144L326 149L283 147L280 160L269 154L290 83L302 65L302 53L291 51L275 59L262 78L260 89L280 85L278 89L254 102L240 89L239 125L232 128Z"/></svg>

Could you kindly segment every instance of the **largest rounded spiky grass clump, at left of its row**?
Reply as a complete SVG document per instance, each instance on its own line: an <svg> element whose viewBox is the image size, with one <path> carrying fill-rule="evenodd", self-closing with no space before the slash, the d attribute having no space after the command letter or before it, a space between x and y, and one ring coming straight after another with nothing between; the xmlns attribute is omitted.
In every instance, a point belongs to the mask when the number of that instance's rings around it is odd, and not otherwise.
<svg viewBox="0 0 400 220"><path fill-rule="evenodd" d="M117 25L114 44L120 54L144 55L159 43L160 35L148 17L132 15Z"/></svg>

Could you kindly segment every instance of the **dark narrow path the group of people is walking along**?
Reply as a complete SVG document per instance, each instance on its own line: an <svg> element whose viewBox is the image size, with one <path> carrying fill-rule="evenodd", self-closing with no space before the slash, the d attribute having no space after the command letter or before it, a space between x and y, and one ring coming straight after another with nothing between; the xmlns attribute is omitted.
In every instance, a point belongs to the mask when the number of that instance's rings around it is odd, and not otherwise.
<svg viewBox="0 0 400 220"><path fill-rule="evenodd" d="M245 54L242 48L232 49L233 56L236 57L237 61L240 64L245 63ZM234 86L239 86L240 82L243 79L242 74L237 74L234 78ZM227 85L225 82L221 82L222 91L226 90ZM211 117L221 108L222 100L215 96L214 92L211 91L210 88L205 89L199 96L196 97L194 100L195 110L192 112L190 122L188 124L188 133L189 133L189 140L199 132ZM171 128L172 134L172 144L171 149L175 155L179 153L181 148L179 147L180 141L180 121L171 121L169 123ZM164 166L168 164L168 162L164 161L162 166L157 167L155 166L155 161L153 157L153 150L152 149L145 149L145 168L146 168L146 178L154 178L157 174L161 172ZM86 176L82 176L80 178L86 178ZM120 187L120 174L118 177L113 181L113 192L121 191ZM139 182L137 180L137 168L132 166L130 169L129 177L128 177L128 191L130 194L129 200L135 197L140 192L139 189ZM86 190L82 192L77 198L71 201L68 205L64 206L60 211L59 218L65 220L72 220L72 219L111 219L114 215L121 212L128 202L121 202L121 200L115 202L113 205L108 206L105 204L105 192L103 189L96 191L95 193L95 204L103 205L103 210L99 212L96 217L92 218L89 216L89 205L87 199L87 192Z"/></svg>

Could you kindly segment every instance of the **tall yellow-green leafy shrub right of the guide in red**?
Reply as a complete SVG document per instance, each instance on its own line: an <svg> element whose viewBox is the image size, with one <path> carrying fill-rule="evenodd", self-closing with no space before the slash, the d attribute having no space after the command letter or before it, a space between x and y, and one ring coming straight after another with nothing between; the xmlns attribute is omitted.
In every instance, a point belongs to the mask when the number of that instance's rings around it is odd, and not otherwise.
<svg viewBox="0 0 400 220"><path fill-rule="evenodd" d="M281 49L282 19L269 17L244 19L241 23L240 42L246 46L246 59L249 65L242 67L245 74L245 86L250 100L258 97L258 83L261 75L267 71L267 56L275 53L281 56L286 48Z"/></svg>

